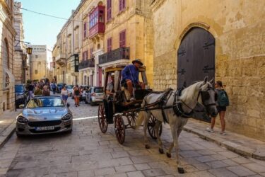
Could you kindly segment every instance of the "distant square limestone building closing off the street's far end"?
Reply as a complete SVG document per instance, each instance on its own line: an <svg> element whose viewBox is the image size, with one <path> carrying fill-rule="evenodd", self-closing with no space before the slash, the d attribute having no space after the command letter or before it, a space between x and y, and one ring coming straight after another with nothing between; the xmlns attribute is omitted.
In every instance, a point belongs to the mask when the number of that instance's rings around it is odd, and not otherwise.
<svg viewBox="0 0 265 177"><path fill-rule="evenodd" d="M30 45L30 80L47 78L47 45Z"/></svg>

